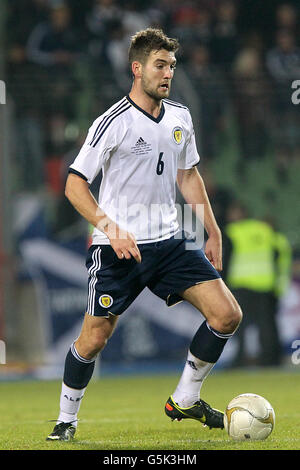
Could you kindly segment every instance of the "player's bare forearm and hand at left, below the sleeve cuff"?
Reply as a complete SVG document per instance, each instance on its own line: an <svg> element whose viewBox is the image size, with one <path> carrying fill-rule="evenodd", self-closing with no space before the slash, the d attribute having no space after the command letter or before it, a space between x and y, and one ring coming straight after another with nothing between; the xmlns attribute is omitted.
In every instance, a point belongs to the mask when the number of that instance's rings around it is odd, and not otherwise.
<svg viewBox="0 0 300 470"><path fill-rule="evenodd" d="M83 178L70 173L67 178L65 195L73 207L92 225L108 237L110 244L119 259L133 256L141 262L140 250L130 232L122 230L99 207L89 189L89 184Z"/></svg>

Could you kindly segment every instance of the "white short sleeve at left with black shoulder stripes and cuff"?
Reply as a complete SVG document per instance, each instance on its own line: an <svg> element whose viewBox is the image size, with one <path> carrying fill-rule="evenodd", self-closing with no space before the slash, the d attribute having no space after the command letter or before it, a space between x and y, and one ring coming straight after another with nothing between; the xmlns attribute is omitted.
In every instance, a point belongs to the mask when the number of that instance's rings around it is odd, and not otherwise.
<svg viewBox="0 0 300 470"><path fill-rule="evenodd" d="M79 174L89 184L96 178L109 159L112 149L117 145L113 124L105 129L104 121L105 118L101 116L93 122L79 154L69 168L70 173Z"/></svg>

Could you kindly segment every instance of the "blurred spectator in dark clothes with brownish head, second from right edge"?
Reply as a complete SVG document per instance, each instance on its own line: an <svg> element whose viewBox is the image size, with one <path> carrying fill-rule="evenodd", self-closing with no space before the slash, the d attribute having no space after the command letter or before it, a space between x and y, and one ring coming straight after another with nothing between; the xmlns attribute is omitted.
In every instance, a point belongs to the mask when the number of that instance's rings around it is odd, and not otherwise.
<svg viewBox="0 0 300 470"><path fill-rule="evenodd" d="M247 161L263 158L271 142L270 83L256 49L245 48L238 54L232 79L241 151L239 171L244 174Z"/></svg>

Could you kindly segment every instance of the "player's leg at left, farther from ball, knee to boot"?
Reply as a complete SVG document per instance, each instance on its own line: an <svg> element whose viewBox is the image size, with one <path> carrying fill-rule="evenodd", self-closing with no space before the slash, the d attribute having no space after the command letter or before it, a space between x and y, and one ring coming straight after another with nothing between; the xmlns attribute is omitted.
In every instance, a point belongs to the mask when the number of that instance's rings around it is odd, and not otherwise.
<svg viewBox="0 0 300 470"><path fill-rule="evenodd" d="M116 326L117 317L85 315L81 333L71 345L65 360L60 395L60 412L47 440L69 440L77 427L77 414L86 387L93 375L96 355L105 347Z"/></svg>

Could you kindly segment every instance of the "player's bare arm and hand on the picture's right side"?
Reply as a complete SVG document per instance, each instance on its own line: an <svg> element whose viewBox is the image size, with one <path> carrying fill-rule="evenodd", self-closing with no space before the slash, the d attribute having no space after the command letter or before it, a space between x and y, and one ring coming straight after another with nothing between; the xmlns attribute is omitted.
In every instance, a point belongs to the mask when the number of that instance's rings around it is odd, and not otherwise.
<svg viewBox="0 0 300 470"><path fill-rule="evenodd" d="M222 235L216 222L209 198L205 189L204 181L199 174L196 166L190 169L177 171L177 185L185 199L196 216L200 218L208 234L208 240L205 245L205 254L213 266L222 270ZM202 220L203 211L199 210L199 205L204 206L204 220Z"/></svg>

